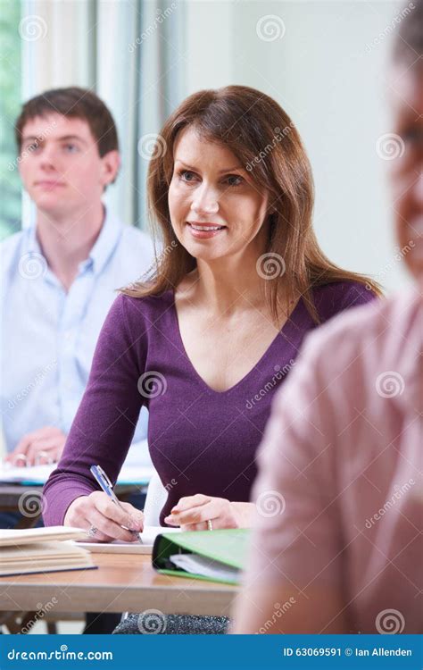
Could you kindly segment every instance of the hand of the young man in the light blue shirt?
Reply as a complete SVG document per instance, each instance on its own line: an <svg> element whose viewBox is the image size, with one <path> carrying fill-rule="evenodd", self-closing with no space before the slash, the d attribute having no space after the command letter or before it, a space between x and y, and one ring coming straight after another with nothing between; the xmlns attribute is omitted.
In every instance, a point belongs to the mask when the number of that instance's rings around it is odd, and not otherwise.
<svg viewBox="0 0 423 670"><path fill-rule="evenodd" d="M45 426L24 435L5 461L13 465L56 463L62 456L66 435L58 428Z"/></svg>

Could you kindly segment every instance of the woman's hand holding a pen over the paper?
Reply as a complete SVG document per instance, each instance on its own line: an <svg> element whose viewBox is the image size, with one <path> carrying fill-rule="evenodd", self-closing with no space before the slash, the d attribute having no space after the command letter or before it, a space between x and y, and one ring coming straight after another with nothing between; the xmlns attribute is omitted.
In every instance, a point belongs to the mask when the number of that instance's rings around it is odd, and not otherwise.
<svg viewBox="0 0 423 670"><path fill-rule="evenodd" d="M129 530L142 532L144 528L143 513L129 503L120 503L123 510L113 503L104 491L93 491L89 496L79 496L71 502L64 517L64 526L74 528L86 528L89 531L94 527L97 529L92 540L95 542L110 542L112 540L125 540L133 542L137 535L125 531L122 526Z"/></svg>

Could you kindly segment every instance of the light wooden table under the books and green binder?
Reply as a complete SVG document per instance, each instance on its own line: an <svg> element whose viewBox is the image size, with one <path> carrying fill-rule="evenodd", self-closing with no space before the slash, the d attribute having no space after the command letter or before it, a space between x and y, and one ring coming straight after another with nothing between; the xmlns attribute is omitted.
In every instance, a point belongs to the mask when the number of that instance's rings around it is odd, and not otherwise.
<svg viewBox="0 0 423 670"><path fill-rule="evenodd" d="M151 556L93 554L97 570L0 577L0 610L228 616L237 587L158 574ZM55 602L55 599L57 602Z"/></svg>

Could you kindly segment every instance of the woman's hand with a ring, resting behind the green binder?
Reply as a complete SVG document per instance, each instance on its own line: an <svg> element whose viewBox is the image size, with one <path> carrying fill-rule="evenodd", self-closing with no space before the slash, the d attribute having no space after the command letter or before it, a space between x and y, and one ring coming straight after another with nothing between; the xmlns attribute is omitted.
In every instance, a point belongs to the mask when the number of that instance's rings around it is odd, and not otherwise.
<svg viewBox="0 0 423 670"><path fill-rule="evenodd" d="M182 531L207 531L211 521L213 531L220 528L247 527L253 503L230 502L226 498L212 498L197 493L180 498L164 519L171 526L180 526Z"/></svg>

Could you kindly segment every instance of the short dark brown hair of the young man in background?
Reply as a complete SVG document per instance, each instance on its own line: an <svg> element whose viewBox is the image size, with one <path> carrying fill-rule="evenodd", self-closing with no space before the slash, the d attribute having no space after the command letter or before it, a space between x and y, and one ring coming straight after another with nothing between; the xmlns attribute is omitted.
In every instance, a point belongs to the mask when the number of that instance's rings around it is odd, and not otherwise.
<svg viewBox="0 0 423 670"><path fill-rule="evenodd" d="M118 132L112 114L95 93L76 86L54 88L40 96L32 97L23 105L15 122L15 137L19 151L25 124L36 116L47 116L52 113L87 121L102 158L109 151L119 151Z"/></svg>

